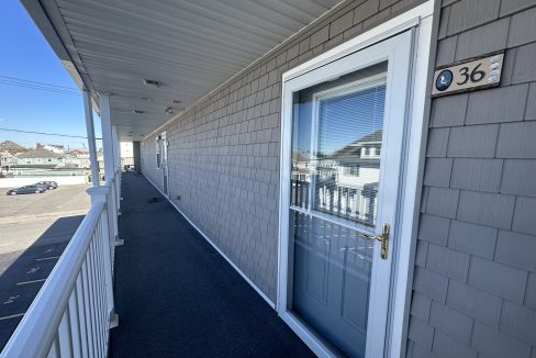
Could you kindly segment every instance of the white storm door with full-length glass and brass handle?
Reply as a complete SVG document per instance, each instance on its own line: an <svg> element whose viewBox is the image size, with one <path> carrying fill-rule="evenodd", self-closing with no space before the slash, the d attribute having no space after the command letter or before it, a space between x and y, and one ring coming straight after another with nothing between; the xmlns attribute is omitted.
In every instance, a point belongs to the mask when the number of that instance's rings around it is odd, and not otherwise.
<svg viewBox="0 0 536 358"><path fill-rule="evenodd" d="M383 356L411 47L406 31L283 82L278 311L322 353Z"/></svg>

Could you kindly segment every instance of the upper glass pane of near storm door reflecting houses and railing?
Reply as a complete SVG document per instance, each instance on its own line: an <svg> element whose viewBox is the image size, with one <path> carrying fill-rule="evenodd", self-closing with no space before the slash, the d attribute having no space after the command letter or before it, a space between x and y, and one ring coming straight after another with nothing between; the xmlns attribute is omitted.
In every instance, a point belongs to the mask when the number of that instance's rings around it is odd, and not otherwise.
<svg viewBox="0 0 536 358"><path fill-rule="evenodd" d="M384 102L381 76L295 94L292 205L376 225Z"/></svg>

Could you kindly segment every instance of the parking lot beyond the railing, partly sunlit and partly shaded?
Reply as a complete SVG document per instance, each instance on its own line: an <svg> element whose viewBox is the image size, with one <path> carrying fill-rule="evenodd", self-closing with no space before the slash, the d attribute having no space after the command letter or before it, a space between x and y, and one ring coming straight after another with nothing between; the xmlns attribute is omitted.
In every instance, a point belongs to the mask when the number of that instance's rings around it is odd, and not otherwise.
<svg viewBox="0 0 536 358"><path fill-rule="evenodd" d="M0 192L0 350L89 210L88 186Z"/></svg>

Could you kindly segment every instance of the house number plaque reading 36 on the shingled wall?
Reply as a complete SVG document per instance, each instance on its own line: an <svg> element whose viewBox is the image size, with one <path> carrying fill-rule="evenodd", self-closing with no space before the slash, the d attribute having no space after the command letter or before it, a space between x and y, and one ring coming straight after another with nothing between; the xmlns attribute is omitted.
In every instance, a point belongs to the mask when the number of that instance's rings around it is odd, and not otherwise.
<svg viewBox="0 0 536 358"><path fill-rule="evenodd" d="M434 74L432 96L499 86L504 53L439 68Z"/></svg>

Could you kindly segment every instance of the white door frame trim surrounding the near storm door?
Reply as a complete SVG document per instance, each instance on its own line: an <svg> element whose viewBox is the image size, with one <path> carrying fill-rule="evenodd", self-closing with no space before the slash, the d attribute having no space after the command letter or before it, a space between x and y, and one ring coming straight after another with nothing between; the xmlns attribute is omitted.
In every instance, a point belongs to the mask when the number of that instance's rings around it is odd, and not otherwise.
<svg viewBox="0 0 536 358"><path fill-rule="evenodd" d="M281 97L281 160L280 160L280 200L279 200L279 255L277 310L281 318L319 356L333 356L328 345L312 333L292 312L288 310L289 272L289 186L290 182L290 144L292 126L292 98L286 93L286 82L346 55L379 43L394 34L412 29L413 54L409 80L406 128L404 133L404 154L400 183L398 209L398 235L391 239L395 247L391 275L390 309L383 356L401 357L404 355L409 306L411 299L414 234L416 221L414 213L418 205L418 168L422 152L424 108L426 101L429 46L432 37L432 15L434 1L427 2L393 18L377 27L284 72L282 75ZM290 103L290 105L289 105Z"/></svg>

